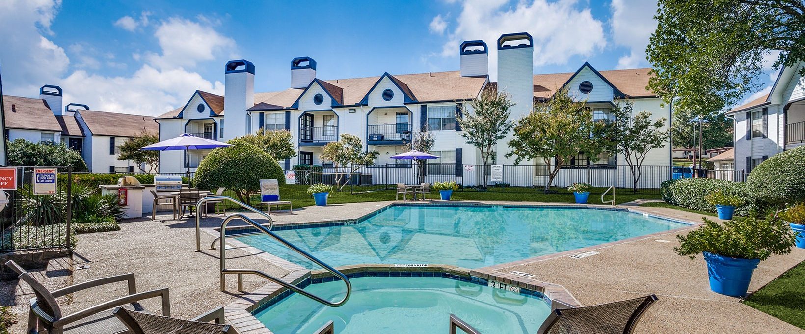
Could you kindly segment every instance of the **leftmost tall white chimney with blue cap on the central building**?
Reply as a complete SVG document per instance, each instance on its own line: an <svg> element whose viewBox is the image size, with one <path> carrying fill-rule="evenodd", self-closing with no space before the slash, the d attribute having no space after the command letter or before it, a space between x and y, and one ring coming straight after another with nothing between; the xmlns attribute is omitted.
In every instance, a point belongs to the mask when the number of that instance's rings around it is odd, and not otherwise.
<svg viewBox="0 0 805 334"><path fill-rule="evenodd" d="M246 112L254 106L254 64L248 60L231 60L226 63L224 78L224 121L226 132L221 140L250 134L251 122ZM225 137L225 138L224 138Z"/></svg>

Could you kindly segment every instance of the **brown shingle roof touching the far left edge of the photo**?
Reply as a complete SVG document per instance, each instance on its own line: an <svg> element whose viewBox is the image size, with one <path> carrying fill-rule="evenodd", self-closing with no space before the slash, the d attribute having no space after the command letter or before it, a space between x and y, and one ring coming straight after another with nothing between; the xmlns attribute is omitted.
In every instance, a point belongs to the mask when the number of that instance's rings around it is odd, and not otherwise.
<svg viewBox="0 0 805 334"><path fill-rule="evenodd" d="M6 128L61 131L47 102L38 98L3 96Z"/></svg>

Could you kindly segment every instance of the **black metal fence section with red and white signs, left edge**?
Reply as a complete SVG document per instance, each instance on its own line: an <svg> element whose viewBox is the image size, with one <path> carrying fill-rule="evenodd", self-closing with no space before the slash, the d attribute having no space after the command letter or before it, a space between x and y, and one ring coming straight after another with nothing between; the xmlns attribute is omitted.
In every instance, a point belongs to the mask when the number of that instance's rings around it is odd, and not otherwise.
<svg viewBox="0 0 805 334"><path fill-rule="evenodd" d="M0 254L72 248L72 168L0 166Z"/></svg>

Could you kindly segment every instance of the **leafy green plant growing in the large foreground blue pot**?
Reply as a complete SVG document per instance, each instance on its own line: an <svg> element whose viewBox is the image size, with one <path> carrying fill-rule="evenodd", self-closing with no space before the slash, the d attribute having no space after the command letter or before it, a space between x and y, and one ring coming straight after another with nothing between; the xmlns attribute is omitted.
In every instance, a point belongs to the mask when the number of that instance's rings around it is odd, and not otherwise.
<svg viewBox="0 0 805 334"><path fill-rule="evenodd" d="M788 223L777 216L749 217L742 221L725 221L719 225L704 218L704 225L687 236L678 235L680 256L692 258L708 252L730 258L766 260L771 255L791 253L796 235Z"/></svg>

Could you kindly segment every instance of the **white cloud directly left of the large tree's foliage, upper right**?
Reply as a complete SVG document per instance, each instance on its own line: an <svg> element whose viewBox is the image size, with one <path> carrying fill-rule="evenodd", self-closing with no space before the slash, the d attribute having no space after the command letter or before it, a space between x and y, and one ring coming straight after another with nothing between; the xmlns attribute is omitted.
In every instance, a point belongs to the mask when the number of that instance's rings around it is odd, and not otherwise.
<svg viewBox="0 0 805 334"><path fill-rule="evenodd" d="M617 61L617 68L638 68L648 65L646 61L646 46L657 21L654 14L657 12L655 0L613 0L612 10L612 39L617 45L628 47L630 51Z"/></svg>

